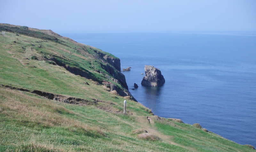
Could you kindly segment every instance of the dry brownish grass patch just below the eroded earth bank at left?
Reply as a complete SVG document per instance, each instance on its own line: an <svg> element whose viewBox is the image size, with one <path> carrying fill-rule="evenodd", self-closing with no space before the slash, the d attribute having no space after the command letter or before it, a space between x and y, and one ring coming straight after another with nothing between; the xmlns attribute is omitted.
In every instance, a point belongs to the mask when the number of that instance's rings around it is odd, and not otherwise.
<svg viewBox="0 0 256 152"><path fill-rule="evenodd" d="M57 105L55 101L38 98L22 91L11 90L0 87L0 113L6 117L16 120L18 123L35 127L55 127L62 126L70 130L81 129L84 132L105 135L100 129L67 118L66 115L80 115Z"/></svg>

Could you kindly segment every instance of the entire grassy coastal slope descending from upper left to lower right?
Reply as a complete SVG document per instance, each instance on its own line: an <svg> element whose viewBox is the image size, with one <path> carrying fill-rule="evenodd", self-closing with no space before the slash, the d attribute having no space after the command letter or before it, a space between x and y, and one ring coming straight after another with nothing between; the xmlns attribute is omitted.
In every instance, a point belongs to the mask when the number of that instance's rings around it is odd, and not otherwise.
<svg viewBox="0 0 256 152"><path fill-rule="evenodd" d="M149 123L148 109L131 100L127 100L128 114L122 114L123 97L109 93L108 88L97 82L45 62L55 56L69 66L106 79L95 72L104 72L92 56L96 48L60 40L56 43L9 32L0 35L0 84L99 99L104 101L99 105L105 110L0 87L0 151L254 151L189 124L164 118ZM81 51L82 47L86 51ZM32 55L40 60L32 60ZM84 85L86 82L90 85ZM138 128L161 140L139 139L132 133Z"/></svg>

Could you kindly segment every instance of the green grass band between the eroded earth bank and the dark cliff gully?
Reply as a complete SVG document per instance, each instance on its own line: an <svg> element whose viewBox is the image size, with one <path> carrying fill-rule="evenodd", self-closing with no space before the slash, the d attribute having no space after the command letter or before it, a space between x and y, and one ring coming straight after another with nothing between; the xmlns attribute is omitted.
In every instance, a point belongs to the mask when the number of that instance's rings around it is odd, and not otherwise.
<svg viewBox="0 0 256 152"><path fill-rule="evenodd" d="M80 93L80 97L84 97L84 94L89 93L84 89L76 88L76 86L82 86L84 82L88 82L92 84L92 87L97 87L88 79L75 76L59 66L51 66L44 61L29 60L28 65L22 65L16 58L12 57L13 54L17 54L16 52L9 54L4 51L5 48L3 46L2 49L3 52L0 55L0 63L2 65L2 69L0 69L1 84L24 87L31 90L47 90L48 92L71 96L77 96L77 93ZM20 58L26 57L26 54L22 54ZM28 68L32 65L36 68Z"/></svg>

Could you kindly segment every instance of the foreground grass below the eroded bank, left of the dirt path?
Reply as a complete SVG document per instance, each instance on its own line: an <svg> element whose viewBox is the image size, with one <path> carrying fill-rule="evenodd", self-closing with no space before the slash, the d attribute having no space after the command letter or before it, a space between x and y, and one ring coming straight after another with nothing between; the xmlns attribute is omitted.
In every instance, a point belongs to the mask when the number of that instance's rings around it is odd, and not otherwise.
<svg viewBox="0 0 256 152"><path fill-rule="evenodd" d="M161 151L164 147L160 145L166 144L139 140L132 135L138 123L132 115L40 99L2 87L0 94L0 151L26 151L33 146L39 151L52 147L56 151ZM174 149L177 148L182 149Z"/></svg>

